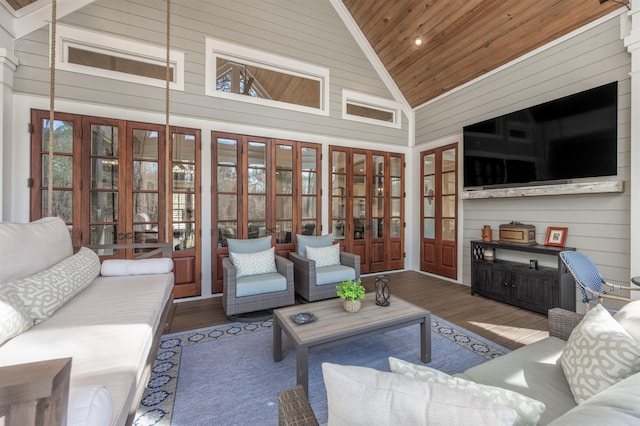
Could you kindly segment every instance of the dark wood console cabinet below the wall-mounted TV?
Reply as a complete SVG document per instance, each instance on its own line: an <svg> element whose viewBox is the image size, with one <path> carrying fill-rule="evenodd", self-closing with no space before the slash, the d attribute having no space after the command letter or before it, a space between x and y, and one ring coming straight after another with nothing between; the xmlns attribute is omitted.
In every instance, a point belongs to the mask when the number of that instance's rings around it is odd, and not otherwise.
<svg viewBox="0 0 640 426"><path fill-rule="evenodd" d="M495 251L495 260L484 259L484 251L487 248ZM503 250L554 256L558 266L530 268L529 262L500 259ZM477 293L545 315L547 310L556 307L575 311L575 282L559 256L559 253L565 250L575 248L471 241L471 294Z"/></svg>

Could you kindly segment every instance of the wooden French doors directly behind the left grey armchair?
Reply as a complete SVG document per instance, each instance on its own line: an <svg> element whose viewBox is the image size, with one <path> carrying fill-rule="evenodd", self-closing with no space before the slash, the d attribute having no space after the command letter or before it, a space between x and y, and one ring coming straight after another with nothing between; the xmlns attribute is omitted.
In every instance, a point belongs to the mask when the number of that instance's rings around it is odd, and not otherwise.
<svg viewBox="0 0 640 426"><path fill-rule="evenodd" d="M227 239L272 237L276 254L295 250L295 235L320 231L317 144L231 133L212 134L213 293L222 291Z"/></svg>

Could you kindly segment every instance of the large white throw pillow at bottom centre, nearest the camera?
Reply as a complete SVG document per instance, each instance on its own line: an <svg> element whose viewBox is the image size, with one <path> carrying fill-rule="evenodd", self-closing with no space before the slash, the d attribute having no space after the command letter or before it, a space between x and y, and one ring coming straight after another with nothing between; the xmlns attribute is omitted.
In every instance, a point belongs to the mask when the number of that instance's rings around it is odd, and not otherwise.
<svg viewBox="0 0 640 426"><path fill-rule="evenodd" d="M323 363L328 425L512 425L516 413L433 382Z"/></svg>

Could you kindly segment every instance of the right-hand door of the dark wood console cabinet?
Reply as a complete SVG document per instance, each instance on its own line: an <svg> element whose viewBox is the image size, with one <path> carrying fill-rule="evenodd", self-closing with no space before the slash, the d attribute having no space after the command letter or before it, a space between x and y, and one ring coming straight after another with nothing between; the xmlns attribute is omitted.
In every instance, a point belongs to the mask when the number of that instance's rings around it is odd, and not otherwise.
<svg viewBox="0 0 640 426"><path fill-rule="evenodd" d="M558 306L557 281L553 274L546 271L518 267L513 273L512 303L546 314L549 308Z"/></svg>

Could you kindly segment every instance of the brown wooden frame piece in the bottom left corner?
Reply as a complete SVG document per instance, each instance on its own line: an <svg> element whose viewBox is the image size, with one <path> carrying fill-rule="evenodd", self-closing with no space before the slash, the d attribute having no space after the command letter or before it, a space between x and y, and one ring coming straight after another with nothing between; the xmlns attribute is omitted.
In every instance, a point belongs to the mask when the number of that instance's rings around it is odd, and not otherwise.
<svg viewBox="0 0 640 426"><path fill-rule="evenodd" d="M0 414L7 426L63 424L71 358L0 368Z"/></svg>

